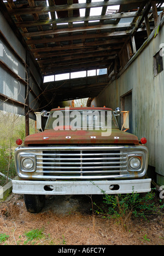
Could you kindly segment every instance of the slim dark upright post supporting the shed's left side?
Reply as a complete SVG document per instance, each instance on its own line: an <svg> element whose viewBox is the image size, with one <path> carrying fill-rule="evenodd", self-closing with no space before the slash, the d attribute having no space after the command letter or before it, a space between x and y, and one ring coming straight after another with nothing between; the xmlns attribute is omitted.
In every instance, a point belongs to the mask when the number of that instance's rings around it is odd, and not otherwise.
<svg viewBox="0 0 164 256"><path fill-rule="evenodd" d="M29 94L30 94L30 53L26 52L26 89L25 89L25 132L26 136L30 135L29 124Z"/></svg>

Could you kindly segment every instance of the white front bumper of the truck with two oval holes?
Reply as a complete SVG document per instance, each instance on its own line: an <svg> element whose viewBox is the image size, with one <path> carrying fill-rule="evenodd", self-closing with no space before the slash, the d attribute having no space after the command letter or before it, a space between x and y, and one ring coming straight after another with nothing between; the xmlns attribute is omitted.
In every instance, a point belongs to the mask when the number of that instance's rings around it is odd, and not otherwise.
<svg viewBox="0 0 164 256"><path fill-rule="evenodd" d="M13 180L13 193L35 195L128 194L151 191L151 179L120 181L22 181Z"/></svg>

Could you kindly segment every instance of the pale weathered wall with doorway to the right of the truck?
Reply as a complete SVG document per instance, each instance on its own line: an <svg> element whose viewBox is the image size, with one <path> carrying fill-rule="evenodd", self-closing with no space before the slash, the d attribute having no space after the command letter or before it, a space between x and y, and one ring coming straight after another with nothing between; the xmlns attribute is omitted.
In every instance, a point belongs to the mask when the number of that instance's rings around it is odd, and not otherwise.
<svg viewBox="0 0 164 256"><path fill-rule="evenodd" d="M149 165L155 167L157 183L164 185L164 71L154 75L154 55L161 46L164 53L164 26L156 38L151 38L131 65L91 104L115 109L121 107L120 97L132 91L133 133L139 139L148 139Z"/></svg>

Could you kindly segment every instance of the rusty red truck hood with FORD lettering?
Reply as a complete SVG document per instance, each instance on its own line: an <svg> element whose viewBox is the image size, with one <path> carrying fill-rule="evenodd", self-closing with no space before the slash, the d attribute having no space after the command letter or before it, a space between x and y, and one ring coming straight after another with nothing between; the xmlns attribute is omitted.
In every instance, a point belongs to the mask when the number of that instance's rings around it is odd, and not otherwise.
<svg viewBox="0 0 164 256"><path fill-rule="evenodd" d="M45 130L27 136L24 144L139 144L139 141L137 136L119 129L112 129L110 136L102 136L102 131Z"/></svg>

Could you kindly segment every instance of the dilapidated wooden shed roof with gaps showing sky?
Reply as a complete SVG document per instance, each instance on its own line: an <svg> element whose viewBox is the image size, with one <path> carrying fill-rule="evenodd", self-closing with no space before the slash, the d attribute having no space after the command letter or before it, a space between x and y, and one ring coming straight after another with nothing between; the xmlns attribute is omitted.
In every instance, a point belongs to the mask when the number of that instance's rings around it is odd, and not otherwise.
<svg viewBox="0 0 164 256"><path fill-rule="evenodd" d="M51 82L50 87L43 85L45 97L56 94L62 101L97 96L111 75L126 65L154 29L163 1L0 0L0 3L7 9L43 76L107 68L107 75L98 79L86 77L68 79L64 84Z"/></svg>

